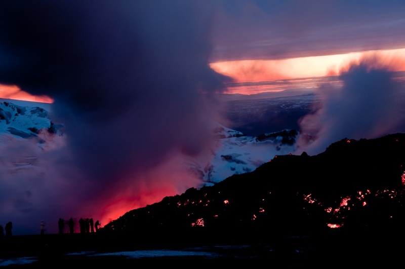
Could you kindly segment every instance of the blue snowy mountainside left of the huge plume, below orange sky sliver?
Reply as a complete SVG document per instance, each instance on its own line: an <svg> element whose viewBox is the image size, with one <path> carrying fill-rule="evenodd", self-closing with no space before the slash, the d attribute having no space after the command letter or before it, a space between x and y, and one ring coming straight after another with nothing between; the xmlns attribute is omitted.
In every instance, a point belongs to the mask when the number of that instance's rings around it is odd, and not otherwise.
<svg viewBox="0 0 405 269"><path fill-rule="evenodd" d="M60 125L49 117L49 104L0 98L0 179L2 184L20 182L25 175L32 179L43 177L41 152L57 147L61 138ZM46 165L45 165L46 166ZM35 180L22 184L29 189ZM9 185L10 186L10 185ZM19 189L10 187L11 189ZM2 197L5 199L5 196ZM16 208L29 210L29 203L17 201Z"/></svg>

